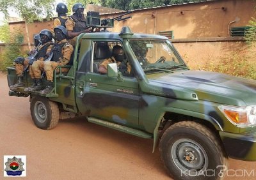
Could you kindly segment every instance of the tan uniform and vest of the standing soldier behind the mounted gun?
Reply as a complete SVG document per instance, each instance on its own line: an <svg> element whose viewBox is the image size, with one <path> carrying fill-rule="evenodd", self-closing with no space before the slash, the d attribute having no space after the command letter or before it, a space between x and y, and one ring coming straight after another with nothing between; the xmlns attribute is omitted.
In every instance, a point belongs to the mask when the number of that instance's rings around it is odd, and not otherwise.
<svg viewBox="0 0 256 180"><path fill-rule="evenodd" d="M86 19L83 17L82 19L78 19L76 15L72 15L68 18L65 23L67 31L80 32L86 29ZM76 45L76 38L68 40L68 42L74 47Z"/></svg>

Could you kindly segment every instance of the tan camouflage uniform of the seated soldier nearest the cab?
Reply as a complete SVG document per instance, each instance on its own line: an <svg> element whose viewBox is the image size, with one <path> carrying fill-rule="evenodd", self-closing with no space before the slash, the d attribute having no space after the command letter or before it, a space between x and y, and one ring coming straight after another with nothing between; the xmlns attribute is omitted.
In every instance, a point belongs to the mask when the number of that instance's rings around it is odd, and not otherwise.
<svg viewBox="0 0 256 180"><path fill-rule="evenodd" d="M61 52L59 51L61 50ZM70 61L70 56L73 52L73 46L66 39L56 42L53 48L53 56L51 61L44 62L44 70L47 80L52 81L53 71L57 66L65 66ZM67 71L61 68L62 71Z"/></svg>

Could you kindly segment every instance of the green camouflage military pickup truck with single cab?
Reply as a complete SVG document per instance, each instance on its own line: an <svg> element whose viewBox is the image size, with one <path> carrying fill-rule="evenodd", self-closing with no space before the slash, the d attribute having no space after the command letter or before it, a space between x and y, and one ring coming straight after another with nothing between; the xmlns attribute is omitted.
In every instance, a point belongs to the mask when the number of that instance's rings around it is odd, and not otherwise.
<svg viewBox="0 0 256 180"><path fill-rule="evenodd" d="M131 72L116 63L100 74L111 49L124 49ZM58 67L60 69L63 67ZM84 116L91 123L159 144L174 179L221 179L228 158L256 160L256 81L209 71L193 71L168 38L154 34L87 33L77 37L68 73L54 72L49 94L24 88L10 96L29 96L38 128L54 128L59 119ZM8 85L15 84L8 68ZM24 71L26 87L32 84Z"/></svg>

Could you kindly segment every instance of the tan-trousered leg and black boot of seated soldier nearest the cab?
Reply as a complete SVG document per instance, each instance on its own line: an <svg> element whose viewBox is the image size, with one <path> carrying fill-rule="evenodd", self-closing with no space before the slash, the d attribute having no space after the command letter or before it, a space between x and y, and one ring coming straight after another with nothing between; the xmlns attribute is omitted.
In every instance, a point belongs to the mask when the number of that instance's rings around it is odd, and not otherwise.
<svg viewBox="0 0 256 180"><path fill-rule="evenodd" d="M46 61L44 63L44 70L45 70L45 74L46 74L47 84L46 84L45 89L40 91L40 93L48 94L52 91L52 89L54 87L54 83L52 82L52 80L53 80L53 71L55 70L55 68L58 65L59 65L58 63L52 62L52 61Z"/></svg>

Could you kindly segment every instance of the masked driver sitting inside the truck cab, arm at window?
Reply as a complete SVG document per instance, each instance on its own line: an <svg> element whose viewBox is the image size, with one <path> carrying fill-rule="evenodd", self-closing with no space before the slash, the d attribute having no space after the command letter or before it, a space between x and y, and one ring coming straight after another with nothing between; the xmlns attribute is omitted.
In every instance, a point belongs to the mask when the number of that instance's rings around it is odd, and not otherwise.
<svg viewBox="0 0 256 180"><path fill-rule="evenodd" d="M124 50L120 45L115 45L113 47L112 56L100 64L98 70L99 73L106 74L108 72L107 67L109 63L116 63L118 66L118 70L121 71L123 75L130 75L131 66L127 61L125 61Z"/></svg>

